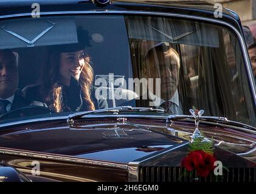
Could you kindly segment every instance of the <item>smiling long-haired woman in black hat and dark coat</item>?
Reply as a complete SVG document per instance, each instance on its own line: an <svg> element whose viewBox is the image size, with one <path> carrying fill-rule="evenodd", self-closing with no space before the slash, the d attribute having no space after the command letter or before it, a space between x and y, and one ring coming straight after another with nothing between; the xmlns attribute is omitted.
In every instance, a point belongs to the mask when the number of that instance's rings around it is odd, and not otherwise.
<svg viewBox="0 0 256 194"><path fill-rule="evenodd" d="M24 89L26 98L46 104L54 112L95 110L91 99L93 70L85 41L78 29L78 43L59 45L49 50L40 84Z"/></svg>

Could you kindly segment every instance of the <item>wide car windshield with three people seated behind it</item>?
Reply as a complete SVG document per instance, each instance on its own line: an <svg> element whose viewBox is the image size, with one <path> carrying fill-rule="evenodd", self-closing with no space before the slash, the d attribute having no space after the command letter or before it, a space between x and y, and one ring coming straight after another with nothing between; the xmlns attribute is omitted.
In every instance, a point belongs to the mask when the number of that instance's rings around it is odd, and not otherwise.
<svg viewBox="0 0 256 194"><path fill-rule="evenodd" d="M134 15L0 23L0 122L129 105L179 115L202 109L256 125L245 59L229 28Z"/></svg>

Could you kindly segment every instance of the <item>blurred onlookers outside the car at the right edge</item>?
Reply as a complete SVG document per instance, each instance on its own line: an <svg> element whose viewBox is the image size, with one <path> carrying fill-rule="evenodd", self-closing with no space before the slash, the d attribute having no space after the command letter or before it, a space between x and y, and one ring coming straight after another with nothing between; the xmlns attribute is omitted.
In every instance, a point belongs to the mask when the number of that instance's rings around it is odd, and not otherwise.
<svg viewBox="0 0 256 194"><path fill-rule="evenodd" d="M256 24L243 26L244 37L246 39L247 49L251 59L252 70L256 79Z"/></svg>

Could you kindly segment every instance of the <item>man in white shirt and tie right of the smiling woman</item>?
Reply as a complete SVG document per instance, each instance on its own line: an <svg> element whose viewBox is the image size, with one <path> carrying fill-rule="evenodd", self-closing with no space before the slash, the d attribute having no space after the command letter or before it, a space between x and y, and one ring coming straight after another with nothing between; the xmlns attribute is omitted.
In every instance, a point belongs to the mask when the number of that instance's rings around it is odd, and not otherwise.
<svg viewBox="0 0 256 194"><path fill-rule="evenodd" d="M161 43L149 50L146 55L146 64L148 65L145 68L145 75L148 79L148 97L151 100L149 105L156 109L164 109L168 113L183 114L178 93L180 69L178 52ZM149 81L150 78L153 82Z"/></svg>

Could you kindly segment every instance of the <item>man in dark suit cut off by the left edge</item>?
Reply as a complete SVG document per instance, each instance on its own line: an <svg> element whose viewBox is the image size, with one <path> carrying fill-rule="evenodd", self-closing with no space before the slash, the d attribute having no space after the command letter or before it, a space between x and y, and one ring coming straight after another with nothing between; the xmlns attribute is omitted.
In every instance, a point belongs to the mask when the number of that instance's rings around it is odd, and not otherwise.
<svg viewBox="0 0 256 194"><path fill-rule="evenodd" d="M18 87L18 54L0 50L0 115L29 103Z"/></svg>

